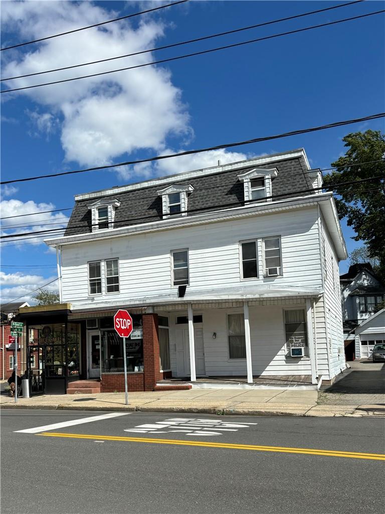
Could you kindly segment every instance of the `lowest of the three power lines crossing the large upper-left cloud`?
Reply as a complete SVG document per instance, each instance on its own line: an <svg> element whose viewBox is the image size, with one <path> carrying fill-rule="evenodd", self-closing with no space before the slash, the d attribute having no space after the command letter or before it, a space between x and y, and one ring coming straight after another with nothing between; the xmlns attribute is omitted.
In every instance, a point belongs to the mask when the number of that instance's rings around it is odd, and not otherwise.
<svg viewBox="0 0 385 514"><path fill-rule="evenodd" d="M381 14L382 12L385 12L385 9L382 9L380 11L370 12L368 14L360 14L359 16L353 16L351 18L345 18L343 20L337 20L335 22L322 23L320 25L313 25L311 27L305 27L305 28L302 28L302 29L290 30L288 32L281 32L279 34L273 34L273 35L264 36L263 38L257 38L257 39L252 39L252 40L248 40L248 41L242 41L241 43L233 43L231 45L219 46L217 48L210 48L208 50L201 50L199 52L186 53L183 56L170 57L168 59L162 59L160 61L152 61L152 62L149 62L149 63L137 64L135 66L128 66L128 67L125 67L125 68L113 69L113 70L109 70L109 71L101 71L99 73L93 73L91 75L83 75L82 77L72 77L71 79L62 79L62 80L56 80L56 81L52 81L52 82L44 82L42 84L34 84L32 86L16 87L16 88L13 88L13 89L3 89L2 91L0 91L0 93L10 93L11 91L21 91L23 89L32 89L34 87L49 86L49 85L53 85L53 84L62 84L64 82L72 82L73 80L88 79L88 78L91 78L91 77L99 77L101 75L108 75L108 74L111 74L111 73L116 73L117 71L126 71L126 70L129 70L129 69L137 69L137 68L143 68L145 66L151 66L153 64L162 64L162 63L171 62L171 61L178 61L180 59L185 59L187 57L201 56L203 54L210 53L210 52L216 52L218 50L226 50L228 48L235 48L235 47L239 47L239 46L242 46L242 45L248 45L248 44L251 44L251 43L257 43L259 41L266 41L266 40L269 40L269 39L279 38L279 37L284 36L284 35L296 34L298 32L303 32L305 30L313 30L313 29L317 29L317 28L321 28L321 27L327 27L329 25L335 25L337 23L344 23L344 22L349 22L349 21L352 21L352 20L358 20L360 18L364 18L364 17L367 17L367 16L373 16L373 15L376 15L376 14Z"/></svg>

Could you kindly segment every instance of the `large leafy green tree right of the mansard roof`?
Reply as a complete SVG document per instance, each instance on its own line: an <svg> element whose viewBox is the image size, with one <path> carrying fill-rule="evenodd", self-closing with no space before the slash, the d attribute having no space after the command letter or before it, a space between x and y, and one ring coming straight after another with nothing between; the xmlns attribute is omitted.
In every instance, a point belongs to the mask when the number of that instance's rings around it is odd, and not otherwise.
<svg viewBox="0 0 385 514"><path fill-rule="evenodd" d="M348 150L332 162L336 170L324 177L324 184L336 185L333 190L339 195L339 218L347 219L357 234L353 239L365 243L368 256L378 259L379 274L385 278L385 136L380 131L367 130L348 134L343 142ZM377 176L382 178L339 186L341 182Z"/></svg>

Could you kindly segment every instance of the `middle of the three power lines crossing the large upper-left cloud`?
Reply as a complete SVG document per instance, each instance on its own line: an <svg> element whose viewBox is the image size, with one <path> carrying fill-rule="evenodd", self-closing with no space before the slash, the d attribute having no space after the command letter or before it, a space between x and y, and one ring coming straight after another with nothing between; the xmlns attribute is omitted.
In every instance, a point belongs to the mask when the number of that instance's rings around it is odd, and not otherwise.
<svg viewBox="0 0 385 514"><path fill-rule="evenodd" d="M338 9L340 7L346 7L346 6L353 5L353 4L360 4L362 2L363 2L363 0L357 0L356 2L349 2L347 4L340 4L340 5L335 5L335 6L332 6L332 7L326 7L325 9L318 9L317 11L310 11L310 12L304 12L302 14L296 14L294 16L287 16L285 18L280 18L279 20L272 20L272 21L269 21L269 22L258 23L256 25L249 25L247 27L242 27L242 28L239 28L239 29L227 30L226 32L219 32L217 34L210 34L210 35L203 36L202 38L190 39L188 41L181 41L179 43L173 43L173 44L170 44L170 45L159 46L157 48L151 48L149 50L142 50L140 52L126 53L123 56L110 57L108 59L100 59L99 61L91 61L91 62L82 63L82 64L74 64L72 66L64 66L62 68L53 68L53 69L49 69L49 70L46 70L46 71L37 71L36 73L29 73L27 75L18 75L16 77L8 77L6 79L0 79L0 82L4 82L4 81L7 81L7 80L14 80L14 79L23 79L25 77L33 77L35 75L44 75L46 73L52 73L54 71L63 71L65 69L79 68L81 66L88 66L90 64L99 64L99 63L103 63L103 62L106 62L106 61L114 61L116 59L123 59L125 57L138 56L138 55L140 55L142 53L155 52L155 51L158 51L158 50L165 50L167 48L174 48L176 46L187 45L187 44L190 44L190 43L197 43L198 41L204 41L204 40L207 40L207 39L219 38L220 36L224 36L224 35L228 35L228 34L234 34L236 32L242 32L244 30L250 30L250 29L254 29L254 28L258 28L258 27L263 27L263 26L266 26L266 25L272 25L274 23L280 23L280 22L285 22L285 21L288 21L288 20L294 20L294 19L300 18L302 16L309 16L311 14L317 14L317 13L324 12L324 11L330 11L332 9Z"/></svg>

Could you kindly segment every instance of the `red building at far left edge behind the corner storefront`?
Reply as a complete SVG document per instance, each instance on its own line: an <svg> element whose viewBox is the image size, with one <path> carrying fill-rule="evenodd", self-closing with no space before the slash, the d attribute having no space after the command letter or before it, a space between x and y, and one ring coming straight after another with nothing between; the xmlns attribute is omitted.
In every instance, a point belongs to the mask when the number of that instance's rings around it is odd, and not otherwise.
<svg viewBox="0 0 385 514"><path fill-rule="evenodd" d="M27 302L5 303L0 306L1 330L0 330L0 376L2 380L8 379L13 371L13 350L8 350L8 337L11 335L11 321L18 314L20 307L29 307ZM20 347L24 346L23 340L19 342ZM17 373L21 371L21 351L17 352Z"/></svg>

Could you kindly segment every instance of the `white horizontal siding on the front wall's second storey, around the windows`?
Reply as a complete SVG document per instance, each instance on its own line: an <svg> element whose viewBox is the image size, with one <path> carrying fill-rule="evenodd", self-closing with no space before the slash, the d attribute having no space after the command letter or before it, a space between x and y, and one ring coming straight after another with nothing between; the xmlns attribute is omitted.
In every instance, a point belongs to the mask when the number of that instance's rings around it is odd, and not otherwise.
<svg viewBox="0 0 385 514"><path fill-rule="evenodd" d="M283 277L264 279L261 239L272 235L281 236ZM251 238L258 240L260 277L242 281L239 241ZM170 250L182 248L189 251L189 292L263 284L322 285L317 210L310 208L63 246L63 302L92 302L96 307L98 301L177 296L177 287L171 285ZM102 295L92 300L87 262L111 258L119 258L120 292L105 294L102 266Z"/></svg>

